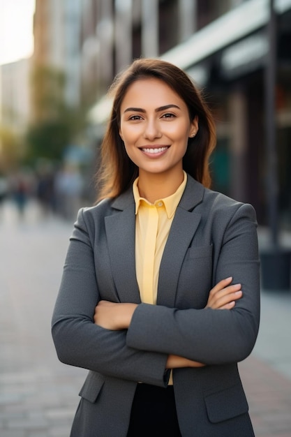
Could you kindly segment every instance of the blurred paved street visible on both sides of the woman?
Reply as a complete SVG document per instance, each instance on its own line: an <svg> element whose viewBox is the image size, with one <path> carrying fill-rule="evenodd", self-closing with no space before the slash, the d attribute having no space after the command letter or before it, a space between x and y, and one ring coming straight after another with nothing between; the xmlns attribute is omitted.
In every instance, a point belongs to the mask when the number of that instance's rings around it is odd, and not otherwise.
<svg viewBox="0 0 291 437"><path fill-rule="evenodd" d="M23 217L0 205L1 437L69 436L87 371L57 360L50 320L72 228L33 202ZM256 437L291 436L290 334L291 292L262 291L258 341L239 364Z"/></svg>

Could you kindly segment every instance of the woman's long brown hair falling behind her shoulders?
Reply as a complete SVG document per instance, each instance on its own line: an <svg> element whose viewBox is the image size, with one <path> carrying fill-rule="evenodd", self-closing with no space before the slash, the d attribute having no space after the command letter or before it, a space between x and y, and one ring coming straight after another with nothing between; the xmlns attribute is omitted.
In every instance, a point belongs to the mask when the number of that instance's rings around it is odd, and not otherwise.
<svg viewBox="0 0 291 437"><path fill-rule="evenodd" d="M186 103L189 119L198 117L199 129L194 138L188 139L183 158L184 170L204 186L209 187L209 156L216 145L216 131L211 112L200 91L188 75L177 66L160 59L137 59L123 73L115 77L109 90L113 98L112 112L100 150L100 168L96 175L99 200L115 198L133 184L138 168L128 158L124 142L119 135L120 108L128 87L147 77L163 80Z"/></svg>

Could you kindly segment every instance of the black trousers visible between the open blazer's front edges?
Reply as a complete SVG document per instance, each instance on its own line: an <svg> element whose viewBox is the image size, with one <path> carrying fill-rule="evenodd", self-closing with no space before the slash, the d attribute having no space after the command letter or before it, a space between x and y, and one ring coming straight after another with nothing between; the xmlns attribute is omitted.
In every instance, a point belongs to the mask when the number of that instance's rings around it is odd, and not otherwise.
<svg viewBox="0 0 291 437"><path fill-rule="evenodd" d="M127 437L181 437L174 388L137 384Z"/></svg>

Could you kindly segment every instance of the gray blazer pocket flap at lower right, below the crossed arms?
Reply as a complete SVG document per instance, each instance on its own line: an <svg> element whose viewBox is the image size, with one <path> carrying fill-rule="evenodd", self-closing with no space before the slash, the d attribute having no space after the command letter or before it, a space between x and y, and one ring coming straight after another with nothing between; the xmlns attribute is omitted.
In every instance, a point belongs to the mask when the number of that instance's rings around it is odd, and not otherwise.
<svg viewBox="0 0 291 437"><path fill-rule="evenodd" d="M207 415L212 423L248 413L248 402L244 389L240 384L233 385L216 393L207 394L204 397Z"/></svg>

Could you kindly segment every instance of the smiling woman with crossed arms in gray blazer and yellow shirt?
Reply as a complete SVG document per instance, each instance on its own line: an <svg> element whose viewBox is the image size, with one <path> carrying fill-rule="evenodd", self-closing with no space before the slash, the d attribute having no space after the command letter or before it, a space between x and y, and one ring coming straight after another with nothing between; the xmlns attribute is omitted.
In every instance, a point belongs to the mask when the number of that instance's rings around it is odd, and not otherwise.
<svg viewBox="0 0 291 437"><path fill-rule="evenodd" d="M111 92L103 200L78 214L52 320L59 359L89 369L71 436L253 436L253 207L209 189L214 122L183 71L139 59Z"/></svg>

